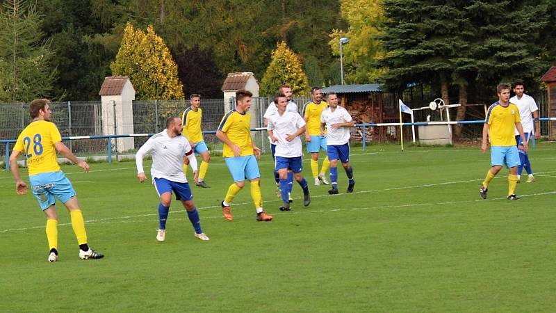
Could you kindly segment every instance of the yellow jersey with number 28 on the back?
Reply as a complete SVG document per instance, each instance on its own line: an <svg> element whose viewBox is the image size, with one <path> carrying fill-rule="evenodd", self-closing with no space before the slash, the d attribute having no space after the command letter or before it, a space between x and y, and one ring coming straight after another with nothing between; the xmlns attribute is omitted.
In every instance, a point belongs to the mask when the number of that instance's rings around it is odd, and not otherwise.
<svg viewBox="0 0 556 313"><path fill-rule="evenodd" d="M56 161L54 143L59 141L62 141L62 136L53 122L36 120L19 134L13 150L24 153L29 176L42 172L58 172L60 165Z"/></svg>

